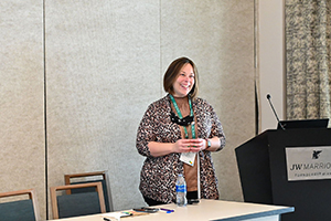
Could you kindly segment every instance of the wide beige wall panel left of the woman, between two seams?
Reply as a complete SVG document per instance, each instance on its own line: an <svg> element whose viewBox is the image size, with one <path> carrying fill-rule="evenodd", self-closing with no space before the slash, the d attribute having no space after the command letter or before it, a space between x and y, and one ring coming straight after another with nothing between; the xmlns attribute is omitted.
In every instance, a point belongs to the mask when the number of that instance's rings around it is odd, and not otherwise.
<svg viewBox="0 0 331 221"><path fill-rule="evenodd" d="M145 206L136 133L160 96L159 3L46 1L49 186L108 170L115 210Z"/></svg>

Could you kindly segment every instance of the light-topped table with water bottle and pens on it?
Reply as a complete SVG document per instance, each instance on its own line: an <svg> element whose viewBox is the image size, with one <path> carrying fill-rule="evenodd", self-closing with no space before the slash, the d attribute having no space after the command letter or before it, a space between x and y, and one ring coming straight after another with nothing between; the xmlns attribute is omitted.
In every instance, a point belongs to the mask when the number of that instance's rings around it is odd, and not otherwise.
<svg viewBox="0 0 331 221"><path fill-rule="evenodd" d="M258 203L233 202L222 200L200 200L200 203L188 204L186 207L177 207L175 204L163 204L157 208L174 210L167 213L159 211L147 215L134 215L121 218L121 221L279 221L282 213L295 211L292 207L267 206ZM129 210L127 210L129 211ZM58 221L104 221L104 217L110 217L110 213L99 213L94 215L60 219ZM113 220L111 220L113 221Z"/></svg>

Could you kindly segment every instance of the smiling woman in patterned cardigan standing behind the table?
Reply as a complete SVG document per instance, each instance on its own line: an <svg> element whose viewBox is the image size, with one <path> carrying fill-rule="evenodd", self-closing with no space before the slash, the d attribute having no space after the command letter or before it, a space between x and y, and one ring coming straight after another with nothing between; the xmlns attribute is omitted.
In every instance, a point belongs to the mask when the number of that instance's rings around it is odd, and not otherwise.
<svg viewBox="0 0 331 221"><path fill-rule="evenodd" d="M149 206L174 202L175 180L183 173L188 199L197 199L199 193L201 198L218 199L211 151L225 146L225 136L213 107L196 97L193 61L173 61L164 74L163 87L167 96L149 105L137 133L138 152L147 157L140 192Z"/></svg>

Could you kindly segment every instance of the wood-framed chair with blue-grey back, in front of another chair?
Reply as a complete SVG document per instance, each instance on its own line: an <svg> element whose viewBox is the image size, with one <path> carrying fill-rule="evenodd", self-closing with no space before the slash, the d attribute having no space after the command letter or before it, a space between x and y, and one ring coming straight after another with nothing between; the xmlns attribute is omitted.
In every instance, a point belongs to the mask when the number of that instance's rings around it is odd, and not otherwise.
<svg viewBox="0 0 331 221"><path fill-rule="evenodd" d="M94 188L96 191L81 192L76 194L56 194L56 192L61 190L73 190L79 188ZM51 187L50 191L53 219L106 212L102 182Z"/></svg>

